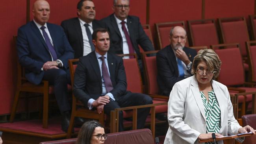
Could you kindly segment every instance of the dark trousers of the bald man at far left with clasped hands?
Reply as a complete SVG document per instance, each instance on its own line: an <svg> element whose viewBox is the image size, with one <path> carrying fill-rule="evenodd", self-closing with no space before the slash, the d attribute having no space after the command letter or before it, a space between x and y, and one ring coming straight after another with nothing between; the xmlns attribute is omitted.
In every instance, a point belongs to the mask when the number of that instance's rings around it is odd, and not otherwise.
<svg viewBox="0 0 256 144"><path fill-rule="evenodd" d="M49 69L44 72L44 80L54 85L54 94L61 113L70 110L67 84L71 83L69 69Z"/></svg>

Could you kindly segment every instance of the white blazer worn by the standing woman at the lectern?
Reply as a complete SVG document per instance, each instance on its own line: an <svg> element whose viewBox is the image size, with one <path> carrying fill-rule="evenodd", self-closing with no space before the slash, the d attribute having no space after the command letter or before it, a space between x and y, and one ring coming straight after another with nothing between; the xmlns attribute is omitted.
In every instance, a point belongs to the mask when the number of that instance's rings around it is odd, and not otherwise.
<svg viewBox="0 0 256 144"><path fill-rule="evenodd" d="M238 134L239 126L234 118L230 95L225 85L212 80L212 88L221 109L219 133ZM206 117L196 76L183 79L173 86L168 102L168 122L164 144L199 144L198 136L206 133ZM237 138L243 142L244 138ZM223 141L219 141L223 144Z"/></svg>

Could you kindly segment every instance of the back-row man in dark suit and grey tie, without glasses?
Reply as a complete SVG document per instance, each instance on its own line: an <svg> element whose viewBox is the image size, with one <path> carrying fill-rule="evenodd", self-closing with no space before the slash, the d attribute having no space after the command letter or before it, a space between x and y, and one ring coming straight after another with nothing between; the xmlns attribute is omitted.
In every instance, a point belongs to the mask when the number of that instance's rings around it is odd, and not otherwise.
<svg viewBox="0 0 256 144"><path fill-rule="evenodd" d="M103 22L95 20L95 6L92 0L80 0L77 4L76 18L61 22L70 45L74 50L74 58L79 58L94 51L92 33L96 28L106 28Z"/></svg>

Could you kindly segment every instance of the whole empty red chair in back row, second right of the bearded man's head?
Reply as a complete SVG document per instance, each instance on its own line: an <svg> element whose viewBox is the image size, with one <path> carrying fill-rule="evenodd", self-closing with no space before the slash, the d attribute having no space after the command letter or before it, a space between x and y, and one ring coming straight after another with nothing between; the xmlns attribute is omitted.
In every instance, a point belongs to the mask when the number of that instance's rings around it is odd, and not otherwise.
<svg viewBox="0 0 256 144"><path fill-rule="evenodd" d="M249 66L247 64L247 52L245 48L245 42L250 41L250 39L245 18L219 18L218 20L222 42L224 44L239 42L241 54L244 60L244 68L246 71L248 71Z"/></svg>

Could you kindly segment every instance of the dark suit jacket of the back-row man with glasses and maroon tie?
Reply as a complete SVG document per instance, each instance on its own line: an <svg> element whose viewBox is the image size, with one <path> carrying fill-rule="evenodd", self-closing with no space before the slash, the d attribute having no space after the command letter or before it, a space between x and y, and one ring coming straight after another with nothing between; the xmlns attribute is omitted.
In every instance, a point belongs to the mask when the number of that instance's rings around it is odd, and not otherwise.
<svg viewBox="0 0 256 144"><path fill-rule="evenodd" d="M116 54L123 54L122 36L117 26L114 14L109 15L106 18L103 18L102 21L105 22L108 26L111 40L110 48L113 48ZM134 50L136 54L138 54L138 58L140 58L138 44L144 51L154 50L154 46L152 45L152 42L146 35L145 31L143 30L141 22L139 21L138 17L128 16L127 27L130 34L130 39L132 41L132 45L134 46Z"/></svg>

